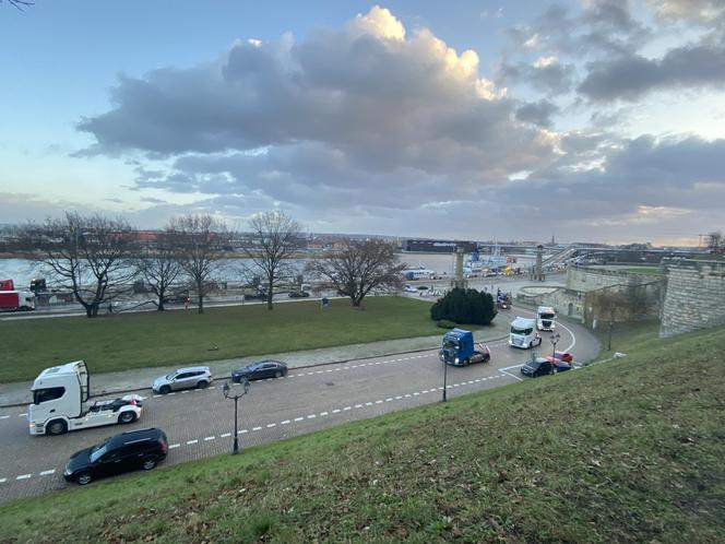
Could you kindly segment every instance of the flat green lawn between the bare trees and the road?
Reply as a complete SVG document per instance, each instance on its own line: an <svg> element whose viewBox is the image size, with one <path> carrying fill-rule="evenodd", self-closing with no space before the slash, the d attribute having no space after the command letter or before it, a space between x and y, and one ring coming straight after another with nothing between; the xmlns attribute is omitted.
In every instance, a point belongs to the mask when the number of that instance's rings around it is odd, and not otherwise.
<svg viewBox="0 0 725 544"><path fill-rule="evenodd" d="M94 374L127 368L310 350L439 334L430 306L405 297L189 309L166 312L3 321L0 381L31 380L40 370L84 359ZM218 350L210 351L213 346Z"/></svg>

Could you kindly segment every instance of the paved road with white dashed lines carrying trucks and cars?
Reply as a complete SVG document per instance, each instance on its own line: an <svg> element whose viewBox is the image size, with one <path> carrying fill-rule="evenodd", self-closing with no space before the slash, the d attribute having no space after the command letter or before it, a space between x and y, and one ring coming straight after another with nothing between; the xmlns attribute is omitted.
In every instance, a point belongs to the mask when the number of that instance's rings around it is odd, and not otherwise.
<svg viewBox="0 0 725 544"><path fill-rule="evenodd" d="M559 323L558 332L561 334L558 348L571 350L577 355L575 362L596 355L598 344L584 329ZM544 343L536 350L538 355L550 353L547 338L544 333ZM490 363L448 368L449 398L522 379L519 367L531 357L531 352L512 348L506 340L489 346ZM443 391L443 368L438 352L427 351L290 369L286 378L254 381L239 401L242 454L249 446L438 402ZM222 385L223 381L216 381L206 390L165 397L144 392L147 395L144 412L138 422L56 437L31 436L24 409L0 410L0 501L70 485L63 481L62 472L73 452L134 428L159 427L166 431L169 454L156 470L230 452L234 402L224 399Z"/></svg>

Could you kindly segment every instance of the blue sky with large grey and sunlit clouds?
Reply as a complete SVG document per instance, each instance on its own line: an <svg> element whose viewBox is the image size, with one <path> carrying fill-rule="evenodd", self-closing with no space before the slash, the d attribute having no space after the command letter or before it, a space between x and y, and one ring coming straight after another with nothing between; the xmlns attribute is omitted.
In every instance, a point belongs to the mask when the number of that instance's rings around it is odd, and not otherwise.
<svg viewBox="0 0 725 544"><path fill-rule="evenodd" d="M0 0L0 223L697 244L725 2Z"/></svg>

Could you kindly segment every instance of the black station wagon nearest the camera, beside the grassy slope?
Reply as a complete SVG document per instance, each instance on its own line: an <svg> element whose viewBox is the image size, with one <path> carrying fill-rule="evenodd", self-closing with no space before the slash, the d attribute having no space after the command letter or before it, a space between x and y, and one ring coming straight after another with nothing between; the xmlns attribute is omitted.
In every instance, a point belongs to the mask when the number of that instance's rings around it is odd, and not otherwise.
<svg viewBox="0 0 725 544"><path fill-rule="evenodd" d="M156 428L130 430L73 453L66 464L68 482L86 485L96 478L132 470L150 471L166 459L168 440Z"/></svg>

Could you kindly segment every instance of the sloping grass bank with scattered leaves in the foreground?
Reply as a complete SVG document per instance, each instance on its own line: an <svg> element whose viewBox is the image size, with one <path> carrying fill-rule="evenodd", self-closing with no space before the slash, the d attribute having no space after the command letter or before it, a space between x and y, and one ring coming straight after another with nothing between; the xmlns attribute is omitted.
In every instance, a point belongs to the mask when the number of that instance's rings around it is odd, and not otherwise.
<svg viewBox="0 0 725 544"><path fill-rule="evenodd" d="M724 333L2 505L0 541L722 542Z"/></svg>

